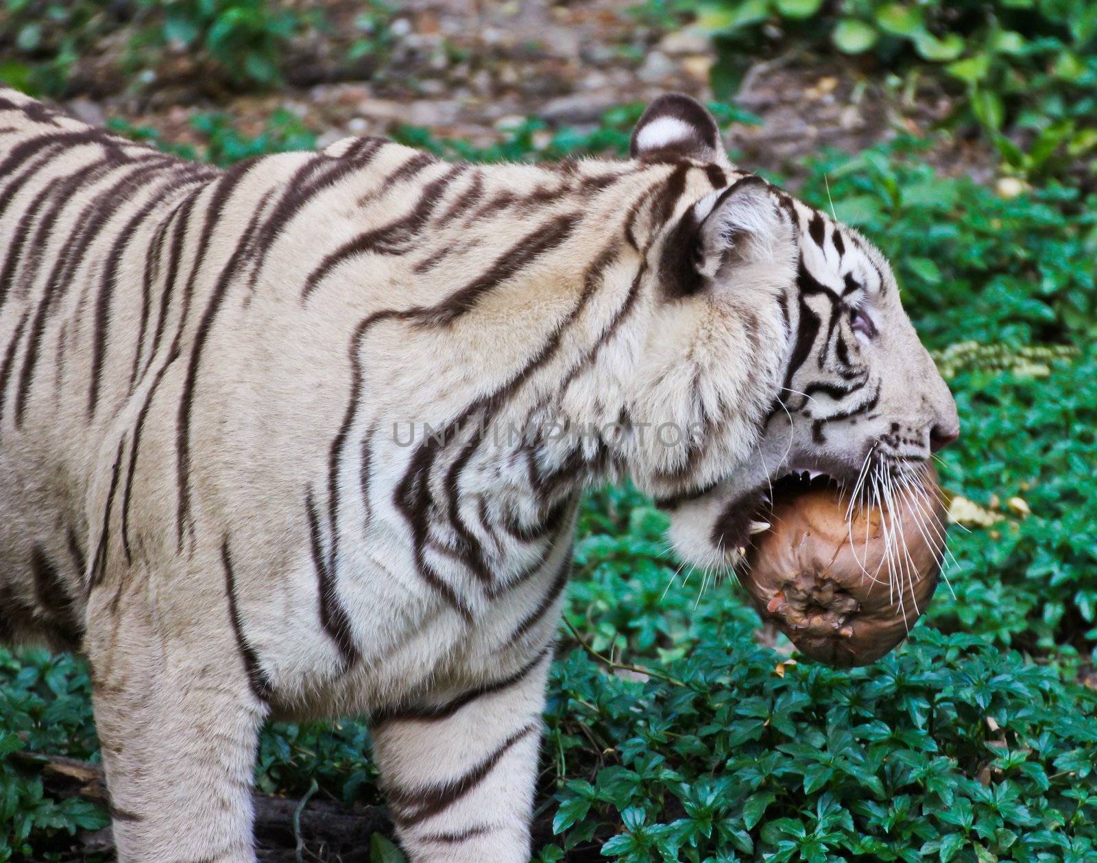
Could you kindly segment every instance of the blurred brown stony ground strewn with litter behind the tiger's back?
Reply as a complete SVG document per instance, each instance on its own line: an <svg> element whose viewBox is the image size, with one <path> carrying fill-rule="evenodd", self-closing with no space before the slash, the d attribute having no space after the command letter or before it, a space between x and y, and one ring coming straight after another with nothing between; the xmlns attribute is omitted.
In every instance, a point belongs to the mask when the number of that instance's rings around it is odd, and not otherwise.
<svg viewBox="0 0 1097 863"><path fill-rule="evenodd" d="M410 124L483 146L527 116L545 121L535 140L546 141L553 128L593 128L606 110L669 90L713 96L715 52L706 34L689 22L653 20L636 0L296 5L321 13L327 25L294 43L284 64L287 86L276 92L217 89L185 52L169 53L139 82L125 80L105 61L108 45L82 70L86 94L69 106L92 122L121 116L151 126L178 143L195 139L195 113L220 111L242 134L258 134L284 107L317 130L321 145ZM363 16L364 8L373 12ZM912 96L881 80L872 69L821 66L796 54L755 63L736 102L761 123L732 124L728 148L749 169L794 173L800 158L823 147L858 151L898 132L924 132L949 112L941 92ZM984 179L992 171L986 156L963 143L949 145L937 161Z"/></svg>

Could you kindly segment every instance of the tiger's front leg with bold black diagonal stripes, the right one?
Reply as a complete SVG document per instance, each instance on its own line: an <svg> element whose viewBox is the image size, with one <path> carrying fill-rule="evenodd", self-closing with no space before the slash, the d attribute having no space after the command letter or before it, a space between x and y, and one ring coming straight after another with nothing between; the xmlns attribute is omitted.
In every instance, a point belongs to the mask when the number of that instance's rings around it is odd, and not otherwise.
<svg viewBox="0 0 1097 863"><path fill-rule="evenodd" d="M374 754L412 863L529 861L551 654L478 689L374 718Z"/></svg>

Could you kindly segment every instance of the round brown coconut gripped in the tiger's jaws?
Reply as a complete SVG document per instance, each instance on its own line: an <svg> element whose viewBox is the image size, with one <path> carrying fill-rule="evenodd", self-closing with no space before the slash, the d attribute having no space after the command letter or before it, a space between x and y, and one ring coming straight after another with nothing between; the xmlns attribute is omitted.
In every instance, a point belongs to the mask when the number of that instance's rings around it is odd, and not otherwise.
<svg viewBox="0 0 1097 863"><path fill-rule="evenodd" d="M936 473L923 492L891 509L857 507L850 523L848 496L834 486L778 491L772 527L754 537L739 577L758 612L808 658L845 668L882 657L937 588L945 510ZM887 534L905 553L886 554Z"/></svg>

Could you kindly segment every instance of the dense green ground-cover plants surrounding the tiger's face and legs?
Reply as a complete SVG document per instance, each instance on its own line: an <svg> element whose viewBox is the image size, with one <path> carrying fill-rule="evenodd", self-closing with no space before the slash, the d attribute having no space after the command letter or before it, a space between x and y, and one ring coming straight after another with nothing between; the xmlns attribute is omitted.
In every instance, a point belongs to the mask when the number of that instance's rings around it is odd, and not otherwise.
<svg viewBox="0 0 1097 863"><path fill-rule="evenodd" d="M487 149L400 137L482 161L620 154L638 111L584 134L527 122ZM290 114L255 138L218 115L194 130L177 151L218 164L313 144ZM803 195L833 197L891 258L950 378L963 435L941 454L943 485L1000 520L953 530L954 595L941 588L904 646L836 671L759 646L734 582L679 572L665 516L634 489L588 496L546 711L555 838L539 861L1097 858L1097 694L1074 682L1097 659L1097 202L1054 181L1019 191L941 177L902 140L810 167ZM11 754L94 757L88 689L68 657L0 652L0 861L104 822L44 796ZM359 722L272 724L257 785L376 803L367 752ZM402 860L381 837L370 855Z"/></svg>

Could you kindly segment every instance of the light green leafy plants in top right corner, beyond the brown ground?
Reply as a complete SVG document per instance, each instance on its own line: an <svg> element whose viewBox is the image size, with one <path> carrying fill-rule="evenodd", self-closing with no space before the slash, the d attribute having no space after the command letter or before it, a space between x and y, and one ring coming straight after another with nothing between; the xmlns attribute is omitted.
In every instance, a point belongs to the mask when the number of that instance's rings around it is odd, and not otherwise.
<svg viewBox="0 0 1097 863"><path fill-rule="evenodd" d="M697 23L722 49L714 83L725 94L756 53L744 48L767 39L871 53L885 68L923 71L963 93L959 120L981 125L1013 170L1097 169L1094 0L708 0Z"/></svg>

